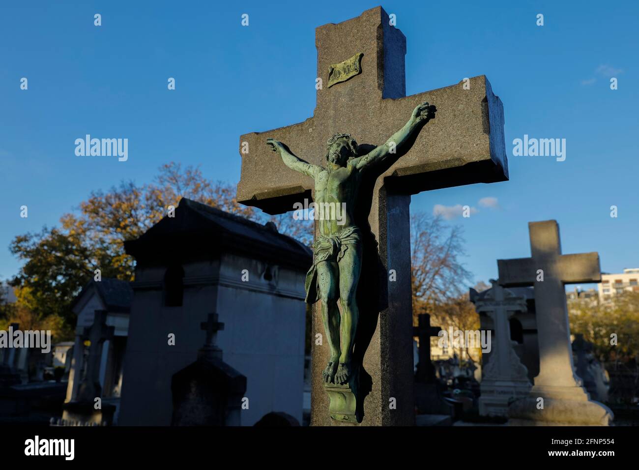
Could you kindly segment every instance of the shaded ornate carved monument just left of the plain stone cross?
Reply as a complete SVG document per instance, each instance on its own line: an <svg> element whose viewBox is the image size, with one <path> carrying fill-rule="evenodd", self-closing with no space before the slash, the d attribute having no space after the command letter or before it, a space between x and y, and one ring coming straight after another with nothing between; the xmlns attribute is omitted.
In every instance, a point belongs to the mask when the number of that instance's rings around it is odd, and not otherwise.
<svg viewBox="0 0 639 470"><path fill-rule="evenodd" d="M530 392L528 370L521 364L512 347L509 319L516 311L526 310L526 299L514 295L491 279L493 287L481 294L470 289L470 301L477 313L486 313L495 325L492 354L488 364L482 367L479 414L483 416L507 416L508 406Z"/></svg>

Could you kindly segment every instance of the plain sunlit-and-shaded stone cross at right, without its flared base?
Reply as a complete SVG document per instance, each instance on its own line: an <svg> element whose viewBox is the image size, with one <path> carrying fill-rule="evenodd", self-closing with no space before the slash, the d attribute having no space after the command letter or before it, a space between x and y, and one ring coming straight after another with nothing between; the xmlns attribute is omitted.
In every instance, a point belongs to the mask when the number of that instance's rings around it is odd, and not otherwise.
<svg viewBox="0 0 639 470"><path fill-rule="evenodd" d="M562 255L557 221L530 222L528 230L532 257L497 260L499 283L535 288L539 338L535 389L581 388L574 373L564 286L601 282L599 254Z"/></svg>

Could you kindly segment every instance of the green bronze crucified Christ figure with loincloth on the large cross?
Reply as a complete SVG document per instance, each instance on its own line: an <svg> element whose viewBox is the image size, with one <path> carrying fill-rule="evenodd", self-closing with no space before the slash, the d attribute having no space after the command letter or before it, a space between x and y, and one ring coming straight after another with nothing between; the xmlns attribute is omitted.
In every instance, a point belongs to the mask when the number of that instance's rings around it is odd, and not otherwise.
<svg viewBox="0 0 639 470"><path fill-rule="evenodd" d="M357 142L350 134L335 134L327 141L326 168L296 157L281 142L266 140L288 168L314 179L315 210L332 208L323 210L319 218L319 235L312 246L314 261L305 283L306 302L321 301L330 347L330 359L323 371L327 383L347 384L354 372L351 355L358 320L355 295L362 267L362 234L355 225L355 203L362 173L408 152L424 124L435 117L435 111L435 106L427 102L415 107L404 127L366 155L358 154ZM334 216L326 217L327 212ZM337 214L339 217L335 217Z"/></svg>

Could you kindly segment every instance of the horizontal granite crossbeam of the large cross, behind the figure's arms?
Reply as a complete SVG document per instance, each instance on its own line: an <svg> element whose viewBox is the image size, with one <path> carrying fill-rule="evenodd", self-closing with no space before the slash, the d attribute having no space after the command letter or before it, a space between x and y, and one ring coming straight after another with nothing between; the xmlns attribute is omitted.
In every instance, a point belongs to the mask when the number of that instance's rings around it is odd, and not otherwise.
<svg viewBox="0 0 639 470"><path fill-rule="evenodd" d="M371 97L366 102L344 96L330 107L318 105L314 116L303 122L268 130L268 134L243 134L238 146L242 157L238 202L268 214L282 214L293 210L295 203L312 198L312 180L284 168L265 145L266 137L285 142L310 164L319 166L326 161L327 138L332 134L348 132L360 145L369 144L372 149L388 139L389 130L401 129L415 106L424 101L437 107L436 118L413 133L415 141L401 159L394 162L397 154L391 154L392 158L375 165L383 170L387 189L417 194L507 180L502 102L484 75L471 78L468 87L464 84L403 98ZM339 86L330 90L337 93Z"/></svg>

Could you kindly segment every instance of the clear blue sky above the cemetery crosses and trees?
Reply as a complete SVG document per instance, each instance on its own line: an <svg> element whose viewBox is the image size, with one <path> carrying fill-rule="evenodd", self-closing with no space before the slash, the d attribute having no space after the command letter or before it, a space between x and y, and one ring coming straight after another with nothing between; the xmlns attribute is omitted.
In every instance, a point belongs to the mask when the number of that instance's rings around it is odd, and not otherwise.
<svg viewBox="0 0 639 470"><path fill-rule="evenodd" d="M240 134L311 116L315 27L377 4L3 3L0 278L19 269L8 252L15 235L56 224L93 189L123 179L144 184L169 161L199 164L208 178L236 184ZM639 266L638 5L382 4L407 38L407 94L485 74L504 102L511 180L424 192L411 205L478 209L451 220L465 228L466 267L476 280L497 277L497 258L530 256L527 223L546 219L560 224L564 253L598 251L604 272ZM535 24L537 13L544 26ZM612 76L618 90L610 90ZM20 90L21 77L28 90ZM168 77L176 90L167 90ZM85 134L127 137L128 161L77 157L73 142ZM524 134L566 139L566 161L513 156L512 141ZM497 208L479 205L488 197Z"/></svg>

